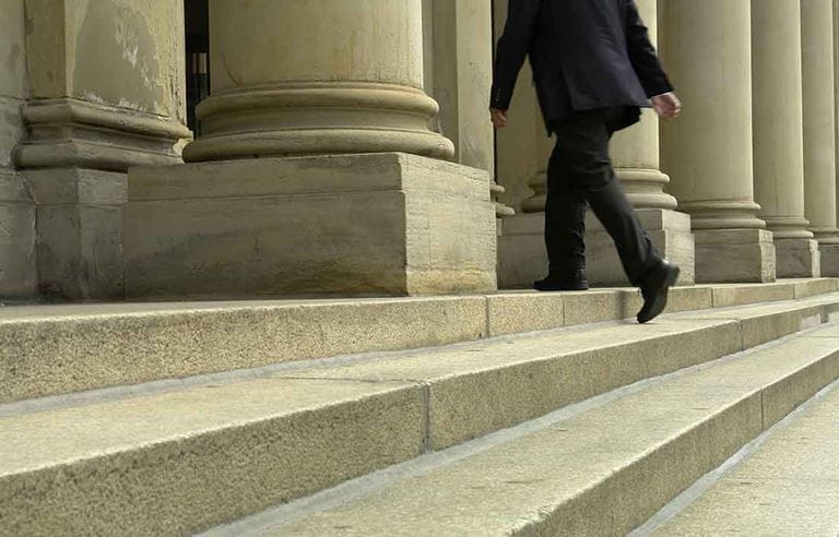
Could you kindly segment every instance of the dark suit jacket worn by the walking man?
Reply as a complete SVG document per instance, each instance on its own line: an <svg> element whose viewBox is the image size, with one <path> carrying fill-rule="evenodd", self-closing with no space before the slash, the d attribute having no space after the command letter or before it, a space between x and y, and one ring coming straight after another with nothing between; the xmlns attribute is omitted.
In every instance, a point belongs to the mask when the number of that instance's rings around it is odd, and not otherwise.
<svg viewBox="0 0 839 537"><path fill-rule="evenodd" d="M524 58L545 123L574 111L618 107L628 127L649 97L673 91L635 0L509 0L498 40L491 106L510 106Z"/></svg>

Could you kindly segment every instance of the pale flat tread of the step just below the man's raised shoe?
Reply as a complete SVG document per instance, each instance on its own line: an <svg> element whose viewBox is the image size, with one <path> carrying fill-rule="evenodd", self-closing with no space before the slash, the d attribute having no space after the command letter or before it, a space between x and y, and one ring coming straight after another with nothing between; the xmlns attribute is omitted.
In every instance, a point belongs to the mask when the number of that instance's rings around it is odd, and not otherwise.
<svg viewBox="0 0 839 537"><path fill-rule="evenodd" d="M839 301L839 296L835 300ZM669 338L673 344L673 347L665 350L680 349L689 354L700 350L693 348L686 341L687 335L694 335L698 344L695 346L702 347L701 350L709 354L708 359L716 359L743 350L740 346L733 347L724 338L708 337L716 334L714 329L735 327L736 323L730 318L746 319L790 312L796 308L810 308L812 301L804 299L794 305L742 307L721 319L701 319L701 313L697 313L697 319L663 317L642 327L637 324L592 325L483 339L393 353L383 358L374 357L348 363L339 361L331 367L306 368L304 365L300 369L269 373L257 379L231 382L216 380L165 393L140 392L115 401L108 401L106 396L105 401L85 402L47 411L0 414L0 475L12 473L15 468L61 464L120 449L132 449L143 443L174 440L340 405L385 392L420 391L424 383L434 386L435 381L470 378L484 371L579 357L580 363L575 369L579 370L580 377L567 378L564 382L563 387L570 390L579 381L591 381L592 375L606 375L606 366L621 368L621 360L626 362L623 349L627 345L645 342L658 344L663 338ZM616 354L607 363L600 363L600 367L589 370L584 360L602 354L604 349L613 349ZM649 356L641 358L660 359ZM677 363L681 367L693 365L693 360ZM624 363L624 367L639 370L637 379L630 381L680 369L657 369L658 366L643 360ZM527 382L537 381L527 371L522 374ZM605 387L617 386L604 386L598 393L607 391ZM569 403L580 398L583 397ZM56 434L59 430L62 433ZM42 451L38 451L38 446Z"/></svg>

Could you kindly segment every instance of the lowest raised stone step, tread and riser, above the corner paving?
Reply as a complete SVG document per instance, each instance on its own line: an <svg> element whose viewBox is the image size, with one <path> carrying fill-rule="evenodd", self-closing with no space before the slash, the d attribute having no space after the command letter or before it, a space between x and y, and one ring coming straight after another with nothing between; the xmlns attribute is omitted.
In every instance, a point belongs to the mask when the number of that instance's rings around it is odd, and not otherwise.
<svg viewBox="0 0 839 537"><path fill-rule="evenodd" d="M773 386L794 383L819 362L836 365L836 341L787 342L260 532L625 534L761 432L768 402L801 403L803 394L788 399L790 394Z"/></svg>

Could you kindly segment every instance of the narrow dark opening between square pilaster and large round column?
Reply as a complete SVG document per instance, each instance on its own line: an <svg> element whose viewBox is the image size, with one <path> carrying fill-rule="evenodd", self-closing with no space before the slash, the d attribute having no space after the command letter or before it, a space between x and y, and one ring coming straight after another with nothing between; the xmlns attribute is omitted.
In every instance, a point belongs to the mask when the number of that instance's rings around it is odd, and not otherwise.
<svg viewBox="0 0 839 537"><path fill-rule="evenodd" d="M210 96L210 5L209 0L185 0L187 51L187 127L196 138L201 124L196 107Z"/></svg>

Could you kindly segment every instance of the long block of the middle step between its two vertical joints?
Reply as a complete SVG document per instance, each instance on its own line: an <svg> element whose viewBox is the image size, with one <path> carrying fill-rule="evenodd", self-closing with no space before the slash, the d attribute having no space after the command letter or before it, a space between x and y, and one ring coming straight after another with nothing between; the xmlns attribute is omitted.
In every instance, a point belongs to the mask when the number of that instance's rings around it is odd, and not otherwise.
<svg viewBox="0 0 839 537"><path fill-rule="evenodd" d="M674 353L680 349L680 353ZM662 321L478 342L294 377L429 386L429 445L444 449L615 387L742 349L737 323Z"/></svg>

